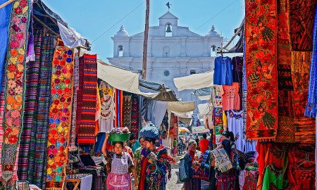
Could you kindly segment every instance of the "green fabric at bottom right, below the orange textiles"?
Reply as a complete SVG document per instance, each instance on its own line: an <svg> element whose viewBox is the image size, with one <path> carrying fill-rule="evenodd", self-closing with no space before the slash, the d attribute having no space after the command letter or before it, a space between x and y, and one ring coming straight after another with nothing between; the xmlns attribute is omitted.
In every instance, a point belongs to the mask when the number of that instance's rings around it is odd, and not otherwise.
<svg viewBox="0 0 317 190"><path fill-rule="evenodd" d="M274 165L266 167L262 190L270 189L270 184L274 184L277 189L284 189L288 184L287 180L283 177L282 170L276 168Z"/></svg>

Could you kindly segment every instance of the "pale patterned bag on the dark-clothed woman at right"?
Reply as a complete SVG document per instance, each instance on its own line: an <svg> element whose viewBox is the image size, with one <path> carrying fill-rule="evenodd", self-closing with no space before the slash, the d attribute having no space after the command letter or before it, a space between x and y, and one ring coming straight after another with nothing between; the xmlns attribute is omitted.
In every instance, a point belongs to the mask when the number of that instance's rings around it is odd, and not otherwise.
<svg viewBox="0 0 317 190"><path fill-rule="evenodd" d="M215 149L211 151L211 153L215 158L215 167L218 168L220 172L228 172L232 169L233 165L224 148Z"/></svg>

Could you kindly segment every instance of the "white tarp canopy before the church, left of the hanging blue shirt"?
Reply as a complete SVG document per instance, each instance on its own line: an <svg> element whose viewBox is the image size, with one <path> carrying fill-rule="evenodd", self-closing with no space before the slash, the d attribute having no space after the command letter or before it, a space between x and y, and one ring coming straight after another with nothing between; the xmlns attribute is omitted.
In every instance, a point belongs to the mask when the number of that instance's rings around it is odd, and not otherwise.
<svg viewBox="0 0 317 190"><path fill-rule="evenodd" d="M213 70L174 79L178 91L185 89L202 89L213 86Z"/></svg>

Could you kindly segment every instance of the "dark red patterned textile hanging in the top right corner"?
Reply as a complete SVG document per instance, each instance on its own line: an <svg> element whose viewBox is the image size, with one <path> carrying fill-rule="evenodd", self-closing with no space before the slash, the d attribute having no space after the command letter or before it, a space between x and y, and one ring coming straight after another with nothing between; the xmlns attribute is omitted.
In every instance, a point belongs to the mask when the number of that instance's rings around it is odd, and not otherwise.
<svg viewBox="0 0 317 190"><path fill-rule="evenodd" d="M315 0L289 1L290 42L294 51L313 50L312 35L315 6Z"/></svg>

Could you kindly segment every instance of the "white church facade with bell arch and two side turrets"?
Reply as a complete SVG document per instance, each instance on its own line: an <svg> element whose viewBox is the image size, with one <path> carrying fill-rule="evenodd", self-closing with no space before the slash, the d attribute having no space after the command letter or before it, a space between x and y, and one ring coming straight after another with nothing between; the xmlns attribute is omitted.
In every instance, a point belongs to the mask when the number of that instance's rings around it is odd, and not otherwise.
<svg viewBox="0 0 317 190"><path fill-rule="evenodd" d="M122 26L112 37L113 65L130 70L142 70L144 32L129 35ZM182 101L197 101L188 91L177 91L173 78L213 70L216 49L221 46L214 27L206 35L191 32L178 25L178 18L169 11L159 18L159 26L149 27L147 50L147 80L165 84Z"/></svg>

